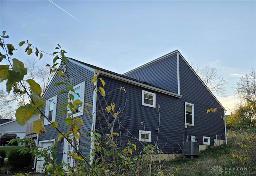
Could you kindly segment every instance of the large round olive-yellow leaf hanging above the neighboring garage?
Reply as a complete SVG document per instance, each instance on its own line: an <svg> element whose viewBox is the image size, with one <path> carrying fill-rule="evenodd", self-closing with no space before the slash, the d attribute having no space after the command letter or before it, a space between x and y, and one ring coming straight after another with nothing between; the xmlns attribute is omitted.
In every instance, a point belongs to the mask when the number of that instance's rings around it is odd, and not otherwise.
<svg viewBox="0 0 256 176"><path fill-rule="evenodd" d="M27 121L34 115L34 108L31 104L20 106L15 113L16 120L20 126L27 124Z"/></svg>

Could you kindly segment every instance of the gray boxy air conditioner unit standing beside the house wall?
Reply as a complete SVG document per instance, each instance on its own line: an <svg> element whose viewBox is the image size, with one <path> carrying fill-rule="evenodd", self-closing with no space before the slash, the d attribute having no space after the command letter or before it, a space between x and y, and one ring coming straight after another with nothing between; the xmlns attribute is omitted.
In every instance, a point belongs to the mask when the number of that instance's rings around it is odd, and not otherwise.
<svg viewBox="0 0 256 176"><path fill-rule="evenodd" d="M186 141L182 144L182 156L199 155L199 142Z"/></svg>

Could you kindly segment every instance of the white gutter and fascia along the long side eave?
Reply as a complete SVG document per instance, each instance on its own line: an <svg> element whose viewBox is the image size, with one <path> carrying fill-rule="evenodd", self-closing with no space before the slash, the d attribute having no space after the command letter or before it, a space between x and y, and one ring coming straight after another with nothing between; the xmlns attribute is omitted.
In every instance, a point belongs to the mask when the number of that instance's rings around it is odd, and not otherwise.
<svg viewBox="0 0 256 176"><path fill-rule="evenodd" d="M114 75L114 74L110 74L110 73L107 73L107 72L103 72L101 70L98 70L98 72L104 76L107 76L109 78L113 78L115 80L120 80L120 81L123 81L123 82L127 82L129 84L132 84L132 85L135 85L135 86L139 86L139 87L142 87L142 88L147 88L149 90L154 90L156 92L160 92L162 94L166 94L166 95L170 95L170 96L174 96L174 97L177 97L177 98L181 98L182 95L179 95L179 94L175 94L173 92L170 92L170 91L167 91L167 90L163 90L163 89L160 89L160 88L156 88L154 86L149 86L147 84L143 84L141 82L137 82L137 81L134 81L134 80L130 80L130 79L127 79L127 78L123 78L121 76L117 76L117 75Z"/></svg>

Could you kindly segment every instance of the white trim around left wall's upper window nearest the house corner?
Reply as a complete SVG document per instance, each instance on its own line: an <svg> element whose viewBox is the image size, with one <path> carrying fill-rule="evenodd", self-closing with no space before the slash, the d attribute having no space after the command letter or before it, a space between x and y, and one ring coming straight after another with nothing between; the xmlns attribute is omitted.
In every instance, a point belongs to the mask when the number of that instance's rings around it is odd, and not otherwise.
<svg viewBox="0 0 256 176"><path fill-rule="evenodd" d="M79 92L79 96L80 96L80 101L82 102L82 106L79 107L79 112L76 114L72 114L72 117L78 117L78 116L82 116L84 114L84 92L85 92L85 82L81 82L79 84L76 84L75 86L73 86L73 89L77 89L80 88L80 92ZM70 94L75 94L72 91L69 91ZM73 100L74 101L74 100ZM68 102L70 102L70 98L68 98ZM68 108L69 110L69 108ZM68 114L72 113L71 111L68 111ZM68 116L68 115L67 115Z"/></svg>

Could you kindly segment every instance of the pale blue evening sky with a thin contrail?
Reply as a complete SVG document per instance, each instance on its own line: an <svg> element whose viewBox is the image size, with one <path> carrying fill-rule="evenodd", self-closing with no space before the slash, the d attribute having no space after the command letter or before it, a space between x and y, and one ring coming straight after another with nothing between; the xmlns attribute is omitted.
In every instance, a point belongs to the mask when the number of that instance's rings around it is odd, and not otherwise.
<svg viewBox="0 0 256 176"><path fill-rule="evenodd" d="M60 44L66 56L119 74L178 49L199 68L217 68L228 112L236 82L256 68L255 0L0 0L0 29L15 48L28 40L52 53ZM18 59L36 58L20 49Z"/></svg>

